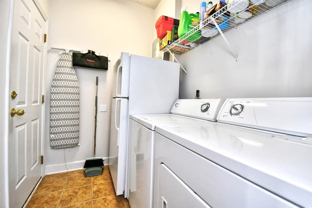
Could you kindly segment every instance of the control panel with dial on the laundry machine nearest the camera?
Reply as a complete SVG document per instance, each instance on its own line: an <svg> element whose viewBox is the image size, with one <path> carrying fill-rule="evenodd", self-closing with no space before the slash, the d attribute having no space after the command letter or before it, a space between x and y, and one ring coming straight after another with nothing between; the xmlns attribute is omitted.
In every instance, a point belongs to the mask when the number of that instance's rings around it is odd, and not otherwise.
<svg viewBox="0 0 312 208"><path fill-rule="evenodd" d="M312 136L312 98L230 98L217 121L296 136Z"/></svg>

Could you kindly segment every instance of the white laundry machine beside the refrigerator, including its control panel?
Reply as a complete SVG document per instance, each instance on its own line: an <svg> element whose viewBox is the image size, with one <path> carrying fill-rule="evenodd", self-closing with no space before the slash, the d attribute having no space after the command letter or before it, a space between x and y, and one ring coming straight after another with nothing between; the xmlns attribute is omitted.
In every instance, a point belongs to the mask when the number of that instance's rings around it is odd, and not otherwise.
<svg viewBox="0 0 312 208"><path fill-rule="evenodd" d="M171 114L130 115L128 181L132 208L153 207L156 125L216 123L221 105L220 99L177 100Z"/></svg>

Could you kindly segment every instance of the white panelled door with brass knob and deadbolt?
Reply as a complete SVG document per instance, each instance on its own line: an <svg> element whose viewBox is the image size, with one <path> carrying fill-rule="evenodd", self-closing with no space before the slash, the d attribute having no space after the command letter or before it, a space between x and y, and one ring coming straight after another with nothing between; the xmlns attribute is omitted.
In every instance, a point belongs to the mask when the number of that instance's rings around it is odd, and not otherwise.
<svg viewBox="0 0 312 208"><path fill-rule="evenodd" d="M13 11L9 89L17 96L11 97L9 107L17 114L9 119L9 205L20 208L41 177L45 21L33 0L15 0Z"/></svg>

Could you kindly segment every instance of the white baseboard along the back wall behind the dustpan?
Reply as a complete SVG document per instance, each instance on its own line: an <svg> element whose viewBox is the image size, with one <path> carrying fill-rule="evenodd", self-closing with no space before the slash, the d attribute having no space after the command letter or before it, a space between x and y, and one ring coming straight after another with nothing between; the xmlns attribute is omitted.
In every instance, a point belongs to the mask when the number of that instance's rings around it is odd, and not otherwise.
<svg viewBox="0 0 312 208"><path fill-rule="evenodd" d="M108 157L103 157L103 159L104 166L108 165ZM64 163L45 166L45 175L83 169L84 163L85 160L79 160L71 163L66 163L66 166Z"/></svg>

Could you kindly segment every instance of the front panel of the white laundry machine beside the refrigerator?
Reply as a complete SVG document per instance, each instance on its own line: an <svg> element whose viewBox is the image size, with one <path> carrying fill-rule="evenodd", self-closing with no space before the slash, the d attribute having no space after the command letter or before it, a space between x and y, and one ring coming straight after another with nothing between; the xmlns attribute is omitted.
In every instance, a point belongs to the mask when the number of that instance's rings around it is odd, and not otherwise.
<svg viewBox="0 0 312 208"><path fill-rule="evenodd" d="M129 119L129 203L153 207L155 131Z"/></svg>

